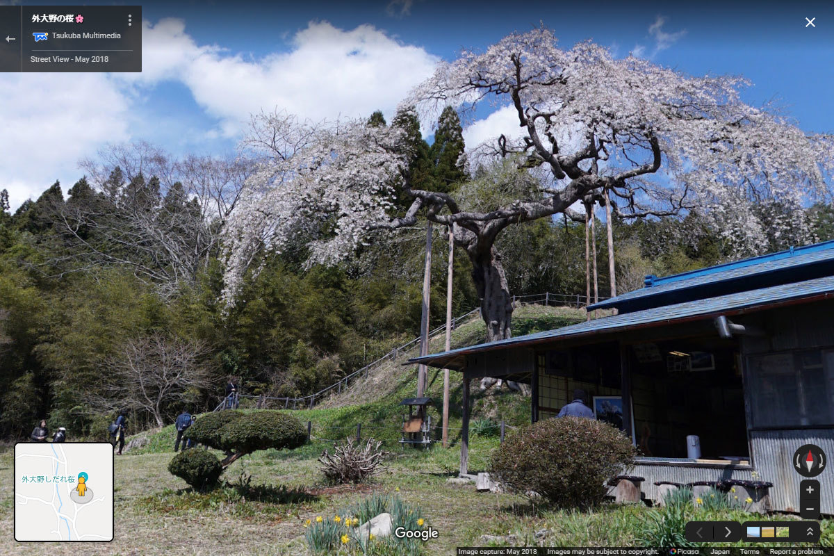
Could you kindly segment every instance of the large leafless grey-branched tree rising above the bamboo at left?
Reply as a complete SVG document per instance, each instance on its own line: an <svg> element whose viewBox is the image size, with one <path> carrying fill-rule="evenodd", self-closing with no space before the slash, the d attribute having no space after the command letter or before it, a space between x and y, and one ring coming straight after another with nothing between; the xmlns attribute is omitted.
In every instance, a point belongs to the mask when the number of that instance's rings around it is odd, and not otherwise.
<svg viewBox="0 0 834 556"><path fill-rule="evenodd" d="M164 296L192 283L219 253L220 229L238 203L252 163L244 157L173 160L148 143L115 145L81 163L93 192L58 210L63 254L74 271L129 268Z"/></svg>

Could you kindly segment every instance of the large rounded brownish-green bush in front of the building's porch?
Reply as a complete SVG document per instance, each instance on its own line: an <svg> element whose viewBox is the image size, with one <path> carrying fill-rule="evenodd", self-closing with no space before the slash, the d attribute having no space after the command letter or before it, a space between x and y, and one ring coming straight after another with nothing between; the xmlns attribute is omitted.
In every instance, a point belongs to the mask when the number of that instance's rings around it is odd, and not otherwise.
<svg viewBox="0 0 834 556"><path fill-rule="evenodd" d="M583 508L602 502L605 482L634 463L631 440L608 423L552 418L510 434L492 458L491 473L518 493Z"/></svg>

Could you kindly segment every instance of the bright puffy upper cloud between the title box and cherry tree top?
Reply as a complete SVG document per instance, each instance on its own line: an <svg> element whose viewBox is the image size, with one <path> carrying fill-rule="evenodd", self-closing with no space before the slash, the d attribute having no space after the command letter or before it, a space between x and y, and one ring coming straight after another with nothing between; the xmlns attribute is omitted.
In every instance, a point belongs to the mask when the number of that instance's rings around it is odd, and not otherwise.
<svg viewBox="0 0 834 556"><path fill-rule="evenodd" d="M151 44L145 50L148 71L134 79L182 81L197 103L219 118L227 136L241 133L249 115L262 109L279 108L318 120L364 117L381 108L390 117L438 60L370 25L345 31L327 22L311 22L295 34L288 53L259 60L198 46L179 20L146 25L145 38Z"/></svg>

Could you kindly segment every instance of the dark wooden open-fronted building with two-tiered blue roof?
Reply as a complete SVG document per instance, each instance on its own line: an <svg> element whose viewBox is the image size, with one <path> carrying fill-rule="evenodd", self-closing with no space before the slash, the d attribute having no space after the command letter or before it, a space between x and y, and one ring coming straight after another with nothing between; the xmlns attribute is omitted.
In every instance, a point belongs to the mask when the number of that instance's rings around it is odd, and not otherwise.
<svg viewBox="0 0 834 556"><path fill-rule="evenodd" d="M470 379L489 376L530 384L534 422L584 389L640 448L646 498L660 481L761 480L774 509L797 511L796 449L834 455L834 242L649 276L595 308L617 314L413 360L463 373L461 473ZM834 471L816 478L834 514Z"/></svg>

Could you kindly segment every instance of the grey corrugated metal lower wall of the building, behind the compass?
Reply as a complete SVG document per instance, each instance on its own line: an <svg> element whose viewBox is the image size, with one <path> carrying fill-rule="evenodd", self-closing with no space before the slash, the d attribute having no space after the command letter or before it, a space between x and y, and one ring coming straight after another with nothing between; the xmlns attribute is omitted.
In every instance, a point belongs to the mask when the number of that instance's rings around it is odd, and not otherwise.
<svg viewBox="0 0 834 556"><path fill-rule="evenodd" d="M753 467L762 481L773 483L771 500L777 510L798 511L799 482L804 478L791 463L802 444L816 444L831 458L834 455L834 430L751 431ZM823 471L820 482L821 511L834 515L834 470Z"/></svg>

